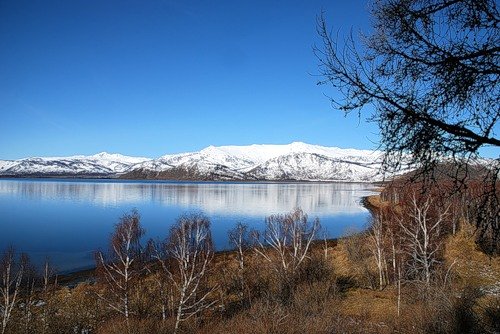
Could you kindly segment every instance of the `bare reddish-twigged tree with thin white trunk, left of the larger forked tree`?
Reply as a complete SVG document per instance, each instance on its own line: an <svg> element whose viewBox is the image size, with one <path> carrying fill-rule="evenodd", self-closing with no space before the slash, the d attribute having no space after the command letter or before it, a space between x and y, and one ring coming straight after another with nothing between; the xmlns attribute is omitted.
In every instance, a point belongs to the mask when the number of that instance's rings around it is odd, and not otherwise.
<svg viewBox="0 0 500 334"><path fill-rule="evenodd" d="M140 239L144 229L140 224L137 210L125 214L120 222L115 225L111 236L111 251L109 258L102 252L97 252L96 261L98 272L112 292L113 298L105 299L108 305L127 320L130 316L130 290L131 283L138 277L143 269L138 262L141 260Z"/></svg>

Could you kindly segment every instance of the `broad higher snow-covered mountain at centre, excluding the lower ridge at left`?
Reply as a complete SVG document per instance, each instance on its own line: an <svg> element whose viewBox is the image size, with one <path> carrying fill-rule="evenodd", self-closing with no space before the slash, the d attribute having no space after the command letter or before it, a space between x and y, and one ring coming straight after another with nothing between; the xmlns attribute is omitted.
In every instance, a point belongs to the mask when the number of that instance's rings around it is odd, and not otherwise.
<svg viewBox="0 0 500 334"><path fill-rule="evenodd" d="M244 181L376 181L381 154L294 142L288 145L209 146L136 164L132 179Z"/></svg>

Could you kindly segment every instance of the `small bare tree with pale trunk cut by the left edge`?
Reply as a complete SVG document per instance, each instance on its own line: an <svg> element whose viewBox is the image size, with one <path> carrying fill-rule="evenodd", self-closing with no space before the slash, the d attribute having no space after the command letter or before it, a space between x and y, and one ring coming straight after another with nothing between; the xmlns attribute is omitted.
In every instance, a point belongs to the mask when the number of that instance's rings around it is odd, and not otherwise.
<svg viewBox="0 0 500 334"><path fill-rule="evenodd" d="M13 247L9 247L0 260L0 312L2 316L2 334L7 330L12 310L16 306L25 271L25 261L16 261Z"/></svg>

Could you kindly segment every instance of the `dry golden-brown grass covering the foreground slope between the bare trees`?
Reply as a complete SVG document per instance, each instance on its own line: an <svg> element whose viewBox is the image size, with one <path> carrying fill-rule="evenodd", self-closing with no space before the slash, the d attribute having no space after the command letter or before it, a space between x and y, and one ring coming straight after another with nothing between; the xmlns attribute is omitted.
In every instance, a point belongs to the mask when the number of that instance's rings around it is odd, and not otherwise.
<svg viewBox="0 0 500 334"><path fill-rule="evenodd" d="M367 201L372 208L389 205L379 196ZM217 253L208 281L218 287L213 296L218 303L182 323L180 333L500 332L500 258L482 253L472 228L463 225L445 240L442 279L436 279L430 293L418 284L403 284L399 317L394 285L381 291L368 288L377 286L371 281L376 267L368 236L359 233L328 241L327 252L322 241L314 243L301 271L288 278L292 292L286 301L281 296L283 277L255 252L245 254L244 291L236 253ZM173 319L161 320L154 278L153 273L134 284L135 313L128 324L96 297L104 289L99 283L58 289L47 304L47 333L171 333ZM26 332L17 327L9 333Z"/></svg>

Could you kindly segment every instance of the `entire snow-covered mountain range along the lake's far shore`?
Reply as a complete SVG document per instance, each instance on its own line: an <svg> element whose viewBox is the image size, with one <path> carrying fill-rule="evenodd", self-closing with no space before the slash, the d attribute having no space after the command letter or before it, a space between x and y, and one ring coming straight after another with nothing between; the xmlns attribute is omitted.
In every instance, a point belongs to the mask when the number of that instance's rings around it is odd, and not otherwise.
<svg viewBox="0 0 500 334"><path fill-rule="evenodd" d="M165 180L377 181L381 153L294 142L209 146L158 159L92 156L0 160L0 176L119 177Z"/></svg>

